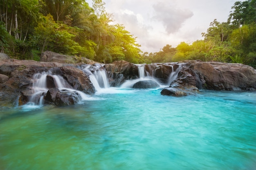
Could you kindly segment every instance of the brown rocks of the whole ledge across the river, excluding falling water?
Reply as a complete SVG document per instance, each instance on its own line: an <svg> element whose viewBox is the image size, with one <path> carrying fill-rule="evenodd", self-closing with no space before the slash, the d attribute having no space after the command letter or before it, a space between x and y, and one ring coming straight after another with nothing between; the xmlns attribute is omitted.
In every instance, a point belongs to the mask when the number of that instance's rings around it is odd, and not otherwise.
<svg viewBox="0 0 256 170"><path fill-rule="evenodd" d="M120 86L128 79L139 78L139 67L143 66L145 75L154 77L162 84L168 84L162 95L193 95L200 89L218 91L256 91L256 70L243 64L230 64L221 62L202 62L200 60L182 61L177 63L132 64L126 61L115 61L111 64L100 64L92 60L83 59L84 62L68 64L63 61L65 55L46 52L41 60L14 60L4 55L0 58L0 104L19 104L28 102L33 91L30 89L36 73L51 72L65 79L70 88L88 95L95 93L89 74L83 67L99 68L106 71L110 86ZM53 57L54 56L54 57ZM68 56L70 57L70 56ZM55 62L51 62L55 61ZM93 64L93 65L91 65ZM170 79L170 75L175 75ZM156 88L158 85L148 81L140 81L133 88ZM49 91L45 93L45 104L69 105L78 101L75 92L56 89L51 76L47 77ZM51 84L52 82L52 84Z"/></svg>

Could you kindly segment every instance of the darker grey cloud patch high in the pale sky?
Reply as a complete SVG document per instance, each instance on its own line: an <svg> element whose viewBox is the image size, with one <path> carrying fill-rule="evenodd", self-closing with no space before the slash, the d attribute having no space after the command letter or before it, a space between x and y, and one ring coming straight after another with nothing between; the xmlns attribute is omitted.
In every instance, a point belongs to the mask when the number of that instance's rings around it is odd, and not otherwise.
<svg viewBox="0 0 256 170"><path fill-rule="evenodd" d="M153 4L155 10L154 20L159 20L168 34L179 31L182 23L193 16L193 12L187 9L178 9L168 2Z"/></svg>

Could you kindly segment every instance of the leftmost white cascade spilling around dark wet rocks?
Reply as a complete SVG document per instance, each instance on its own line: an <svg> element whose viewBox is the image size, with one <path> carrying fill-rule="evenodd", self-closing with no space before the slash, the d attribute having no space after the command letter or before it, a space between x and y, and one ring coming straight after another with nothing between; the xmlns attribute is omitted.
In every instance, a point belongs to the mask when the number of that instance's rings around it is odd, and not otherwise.
<svg viewBox="0 0 256 170"><path fill-rule="evenodd" d="M89 98L85 93L72 88L62 76L53 75L51 71L36 73L32 78L33 82L27 89L29 105L70 105Z"/></svg>

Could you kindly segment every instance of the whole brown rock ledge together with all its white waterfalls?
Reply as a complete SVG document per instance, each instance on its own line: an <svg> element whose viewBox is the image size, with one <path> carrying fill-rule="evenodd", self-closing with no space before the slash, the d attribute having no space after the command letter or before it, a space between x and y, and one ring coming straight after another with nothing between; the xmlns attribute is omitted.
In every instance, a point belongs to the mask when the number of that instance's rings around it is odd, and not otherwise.
<svg viewBox="0 0 256 170"><path fill-rule="evenodd" d="M255 91L256 70L243 64L200 60L152 64L0 60L0 101L15 106L69 105L92 99L89 95L97 91L159 87L164 88L162 95L189 95L200 89Z"/></svg>

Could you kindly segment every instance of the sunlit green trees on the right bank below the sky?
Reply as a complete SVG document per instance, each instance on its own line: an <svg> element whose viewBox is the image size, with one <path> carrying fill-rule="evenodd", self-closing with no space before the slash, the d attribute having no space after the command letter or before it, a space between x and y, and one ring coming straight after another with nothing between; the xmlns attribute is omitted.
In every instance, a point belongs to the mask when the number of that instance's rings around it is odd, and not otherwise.
<svg viewBox="0 0 256 170"><path fill-rule="evenodd" d="M159 52L143 53L144 61L178 62L202 60L242 63L256 68L256 0L237 1L227 22L210 23L203 40L181 42L176 48L167 44Z"/></svg>

